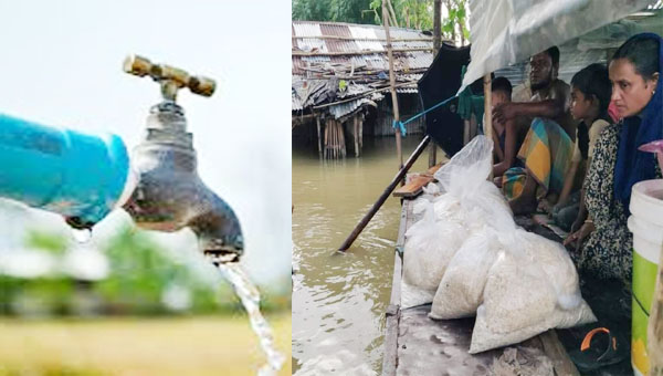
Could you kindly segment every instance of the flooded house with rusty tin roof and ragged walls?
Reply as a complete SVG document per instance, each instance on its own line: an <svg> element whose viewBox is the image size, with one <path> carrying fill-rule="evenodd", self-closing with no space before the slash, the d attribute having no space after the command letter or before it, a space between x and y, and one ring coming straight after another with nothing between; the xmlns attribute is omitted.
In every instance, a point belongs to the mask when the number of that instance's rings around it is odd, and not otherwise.
<svg viewBox="0 0 663 376"><path fill-rule="evenodd" d="M390 28L401 118L422 111L417 82L433 62L432 33ZM293 145L322 157L361 155L364 137L394 134L385 28L339 22L292 22ZM407 124L420 134L423 117Z"/></svg>

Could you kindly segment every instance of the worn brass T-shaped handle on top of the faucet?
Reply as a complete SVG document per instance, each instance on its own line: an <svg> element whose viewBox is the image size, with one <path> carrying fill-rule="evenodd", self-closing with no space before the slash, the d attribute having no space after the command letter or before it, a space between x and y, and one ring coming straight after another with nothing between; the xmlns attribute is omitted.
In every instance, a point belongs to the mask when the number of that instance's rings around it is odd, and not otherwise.
<svg viewBox="0 0 663 376"><path fill-rule="evenodd" d="M167 101L175 102L178 90L182 87L189 87L191 93L202 96L211 96L217 88L217 83L212 79L192 76L182 69L166 64L154 64L139 55L128 55L124 61L123 69L126 73L139 77L149 75L161 85L161 94Z"/></svg>

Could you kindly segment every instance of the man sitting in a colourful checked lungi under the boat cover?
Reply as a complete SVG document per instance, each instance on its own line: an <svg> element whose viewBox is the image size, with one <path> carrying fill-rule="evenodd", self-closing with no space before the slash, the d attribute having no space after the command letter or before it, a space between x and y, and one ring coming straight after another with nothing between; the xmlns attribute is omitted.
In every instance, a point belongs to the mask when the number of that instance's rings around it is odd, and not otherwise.
<svg viewBox="0 0 663 376"><path fill-rule="evenodd" d="M576 138L576 123L569 113L570 87L557 79L559 49L537 53L529 60L532 100L507 102L493 108L493 121L522 130L529 125L518 152L524 167L504 173L502 187L515 215L532 213L538 200L555 203L564 186Z"/></svg>

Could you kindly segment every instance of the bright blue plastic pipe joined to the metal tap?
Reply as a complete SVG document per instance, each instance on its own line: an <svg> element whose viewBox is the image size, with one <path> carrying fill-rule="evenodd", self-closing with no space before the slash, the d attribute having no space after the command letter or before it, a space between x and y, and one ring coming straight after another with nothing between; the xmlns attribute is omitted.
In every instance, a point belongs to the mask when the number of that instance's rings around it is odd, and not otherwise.
<svg viewBox="0 0 663 376"><path fill-rule="evenodd" d="M114 208L128 174L127 148L116 135L0 114L0 197L96 223Z"/></svg>

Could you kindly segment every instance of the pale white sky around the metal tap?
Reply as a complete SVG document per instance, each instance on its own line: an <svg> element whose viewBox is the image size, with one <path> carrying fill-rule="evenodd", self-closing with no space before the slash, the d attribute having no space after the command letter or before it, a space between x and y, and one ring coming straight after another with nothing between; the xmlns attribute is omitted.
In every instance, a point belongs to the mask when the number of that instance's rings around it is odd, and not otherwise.
<svg viewBox="0 0 663 376"><path fill-rule="evenodd" d="M290 19L284 0L0 0L0 113L114 133L130 149L161 96L151 80L123 72L128 54L217 80L211 97L178 95L199 175L240 218L249 273L283 278L292 252ZM109 217L95 233L127 218ZM172 237L194 240L164 239Z"/></svg>

